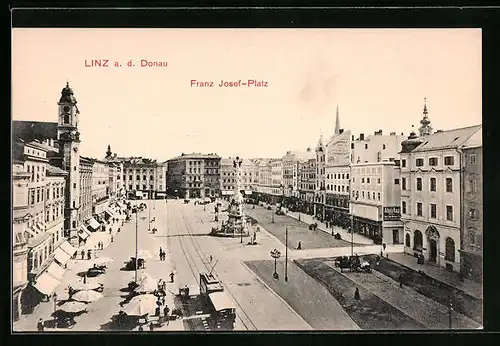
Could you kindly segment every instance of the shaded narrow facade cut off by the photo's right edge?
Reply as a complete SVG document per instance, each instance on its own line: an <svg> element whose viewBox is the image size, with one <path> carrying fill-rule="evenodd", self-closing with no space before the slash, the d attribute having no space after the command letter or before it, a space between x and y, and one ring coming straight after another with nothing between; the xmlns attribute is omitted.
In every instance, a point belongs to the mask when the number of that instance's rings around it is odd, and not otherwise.
<svg viewBox="0 0 500 346"><path fill-rule="evenodd" d="M483 147L480 138L477 142L468 143L461 148L463 168L460 272L466 278L482 282Z"/></svg>

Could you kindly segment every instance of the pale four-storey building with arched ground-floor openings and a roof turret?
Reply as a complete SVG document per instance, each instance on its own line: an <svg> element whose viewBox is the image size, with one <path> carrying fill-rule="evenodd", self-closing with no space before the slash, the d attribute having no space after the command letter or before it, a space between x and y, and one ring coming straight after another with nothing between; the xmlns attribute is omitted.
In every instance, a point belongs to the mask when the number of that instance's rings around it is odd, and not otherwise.
<svg viewBox="0 0 500 346"><path fill-rule="evenodd" d="M459 148L481 126L432 133L427 108L419 129L402 143L401 220L405 252L458 271L461 244L461 167Z"/></svg>

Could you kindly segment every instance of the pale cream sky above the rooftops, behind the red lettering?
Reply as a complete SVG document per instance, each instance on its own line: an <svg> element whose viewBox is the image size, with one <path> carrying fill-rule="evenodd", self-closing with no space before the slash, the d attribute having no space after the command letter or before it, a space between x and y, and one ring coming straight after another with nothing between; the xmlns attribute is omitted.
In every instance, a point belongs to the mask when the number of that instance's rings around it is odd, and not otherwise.
<svg viewBox="0 0 500 346"><path fill-rule="evenodd" d="M218 87L249 79L267 87ZM281 157L330 137L337 106L355 134L409 134L424 98L434 129L481 124L481 30L12 30L13 120L57 122L67 81L84 156Z"/></svg>

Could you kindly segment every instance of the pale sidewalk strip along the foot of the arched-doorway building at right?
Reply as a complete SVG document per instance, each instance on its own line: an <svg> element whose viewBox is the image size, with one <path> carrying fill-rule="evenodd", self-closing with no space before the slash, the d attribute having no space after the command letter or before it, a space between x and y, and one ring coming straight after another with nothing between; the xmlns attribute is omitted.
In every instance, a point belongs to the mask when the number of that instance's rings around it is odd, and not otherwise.
<svg viewBox="0 0 500 346"><path fill-rule="evenodd" d="M433 279L453 286L475 298L483 299L483 285L468 279L464 279L462 282L459 280L458 273L456 272L449 272L442 267L430 264L417 264L415 257L405 253L392 254L389 259L415 271L423 270L425 274Z"/></svg>

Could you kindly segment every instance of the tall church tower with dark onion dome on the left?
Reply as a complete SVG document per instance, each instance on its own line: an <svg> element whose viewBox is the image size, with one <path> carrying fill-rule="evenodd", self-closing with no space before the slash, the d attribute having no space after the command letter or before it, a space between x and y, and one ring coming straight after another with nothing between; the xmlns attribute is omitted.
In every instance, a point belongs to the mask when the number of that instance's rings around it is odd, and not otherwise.
<svg viewBox="0 0 500 346"><path fill-rule="evenodd" d="M78 117L80 112L76 106L73 90L66 83L61 91L58 111L57 139L59 154L62 158L62 169L68 172L65 188L66 205L64 209L65 236L74 244L78 242L78 209L80 208L80 133Z"/></svg>

